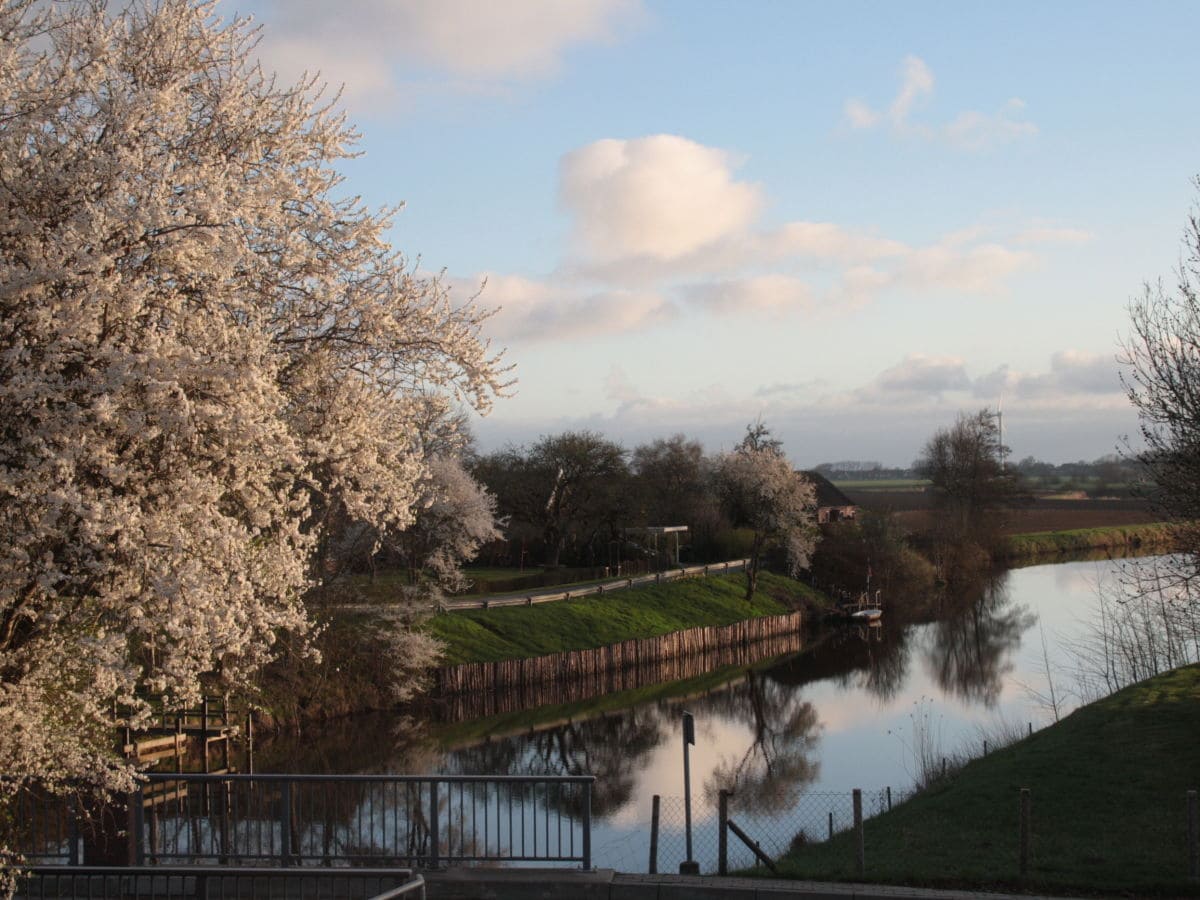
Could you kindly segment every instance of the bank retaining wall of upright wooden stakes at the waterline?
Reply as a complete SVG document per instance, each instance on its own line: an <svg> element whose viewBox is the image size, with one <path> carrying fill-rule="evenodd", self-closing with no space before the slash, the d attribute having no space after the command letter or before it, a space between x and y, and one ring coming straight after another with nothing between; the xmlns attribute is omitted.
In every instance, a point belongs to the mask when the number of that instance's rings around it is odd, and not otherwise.
<svg viewBox="0 0 1200 900"><path fill-rule="evenodd" d="M803 649L798 612L672 631L546 656L468 662L433 672L451 721L574 703L602 694L678 682Z"/></svg>

